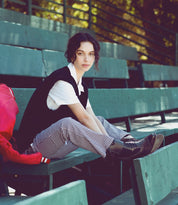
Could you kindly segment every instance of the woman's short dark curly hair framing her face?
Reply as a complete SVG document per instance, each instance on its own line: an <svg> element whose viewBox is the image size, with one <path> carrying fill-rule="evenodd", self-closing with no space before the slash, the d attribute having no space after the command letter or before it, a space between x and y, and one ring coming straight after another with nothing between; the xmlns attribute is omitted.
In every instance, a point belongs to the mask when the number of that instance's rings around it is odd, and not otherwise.
<svg viewBox="0 0 178 205"><path fill-rule="evenodd" d="M86 41L93 44L95 51L95 68L98 69L100 45L89 33L79 32L72 36L68 41L65 57L69 63L74 62L76 59L76 51L80 47L80 43Z"/></svg>

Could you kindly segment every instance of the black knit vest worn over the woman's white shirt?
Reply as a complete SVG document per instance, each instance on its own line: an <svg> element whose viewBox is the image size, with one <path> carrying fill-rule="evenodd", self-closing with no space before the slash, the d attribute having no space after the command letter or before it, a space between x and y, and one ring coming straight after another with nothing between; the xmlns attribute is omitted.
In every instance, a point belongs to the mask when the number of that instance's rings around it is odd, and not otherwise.
<svg viewBox="0 0 178 205"><path fill-rule="evenodd" d="M58 80L70 83L73 86L79 101L86 108L88 99L87 87L83 84L84 92L79 96L77 84L71 76L69 68L63 67L54 71L50 76L45 78L39 88L35 90L28 103L17 135L19 152L23 152L28 148L36 134L49 127L51 124L65 117L76 119L67 105L62 105L57 110L50 110L47 107L46 101L48 93Z"/></svg>

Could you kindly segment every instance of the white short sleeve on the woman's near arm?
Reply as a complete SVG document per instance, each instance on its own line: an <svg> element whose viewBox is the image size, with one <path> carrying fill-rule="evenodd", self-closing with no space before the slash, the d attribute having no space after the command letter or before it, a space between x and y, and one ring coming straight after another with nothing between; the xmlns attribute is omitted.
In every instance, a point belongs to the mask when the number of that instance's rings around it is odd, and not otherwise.
<svg viewBox="0 0 178 205"><path fill-rule="evenodd" d="M49 91L47 105L50 109L57 109L61 105L75 103L79 103L79 99L75 94L73 86L66 81L57 81Z"/></svg>

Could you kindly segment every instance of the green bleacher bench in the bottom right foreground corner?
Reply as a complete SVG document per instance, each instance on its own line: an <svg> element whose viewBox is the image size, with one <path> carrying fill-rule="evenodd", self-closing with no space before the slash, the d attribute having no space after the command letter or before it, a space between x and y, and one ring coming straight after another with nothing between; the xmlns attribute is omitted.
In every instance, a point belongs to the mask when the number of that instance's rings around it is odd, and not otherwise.
<svg viewBox="0 0 178 205"><path fill-rule="evenodd" d="M178 202L178 142L133 160L133 189L103 205L177 205Z"/></svg>

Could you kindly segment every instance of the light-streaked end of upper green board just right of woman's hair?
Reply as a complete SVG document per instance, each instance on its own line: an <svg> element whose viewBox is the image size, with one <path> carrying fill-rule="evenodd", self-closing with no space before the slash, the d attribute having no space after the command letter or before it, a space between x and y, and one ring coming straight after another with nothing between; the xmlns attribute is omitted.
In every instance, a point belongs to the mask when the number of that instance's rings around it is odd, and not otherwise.
<svg viewBox="0 0 178 205"><path fill-rule="evenodd" d="M100 42L100 55L119 59L138 61L137 49L116 43Z"/></svg>

